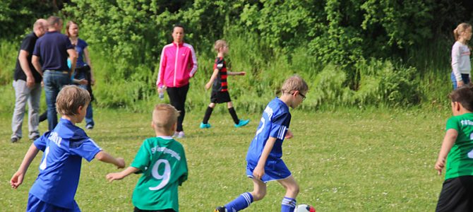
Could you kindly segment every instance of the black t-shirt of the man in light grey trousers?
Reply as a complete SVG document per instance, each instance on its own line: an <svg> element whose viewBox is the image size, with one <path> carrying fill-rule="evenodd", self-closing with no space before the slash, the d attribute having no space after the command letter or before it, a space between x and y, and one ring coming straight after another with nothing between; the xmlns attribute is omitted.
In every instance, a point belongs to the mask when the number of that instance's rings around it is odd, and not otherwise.
<svg viewBox="0 0 473 212"><path fill-rule="evenodd" d="M26 35L26 37L23 39L21 42L21 47L20 50L28 52L28 65L30 65L30 70L32 72L33 77L35 77L35 83L41 83L42 77L40 73L38 73L31 63L31 57L33 55L33 50L35 49L35 44L36 40L38 37L35 35L35 33L30 33ZM18 50L18 56L20 55L20 50ZM15 68L15 74L13 75L13 78L18 81L18 80L23 80L26 81L26 74L23 72L23 69L21 69L20 66L20 60L18 57L16 57L16 68Z"/></svg>

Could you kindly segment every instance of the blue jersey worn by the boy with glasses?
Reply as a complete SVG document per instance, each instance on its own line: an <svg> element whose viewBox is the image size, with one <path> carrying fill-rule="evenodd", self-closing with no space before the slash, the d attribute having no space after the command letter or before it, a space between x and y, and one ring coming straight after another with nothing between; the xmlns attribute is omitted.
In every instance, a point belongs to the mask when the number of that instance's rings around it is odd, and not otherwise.
<svg viewBox="0 0 473 212"><path fill-rule="evenodd" d="M282 141L284 141L290 122L291 114L286 103L279 98L271 100L263 112L256 135L251 141L246 154L246 161L250 165L256 166L258 164L263 148L270 136L275 138L276 142L266 163L271 160L279 160L282 157Z"/></svg>

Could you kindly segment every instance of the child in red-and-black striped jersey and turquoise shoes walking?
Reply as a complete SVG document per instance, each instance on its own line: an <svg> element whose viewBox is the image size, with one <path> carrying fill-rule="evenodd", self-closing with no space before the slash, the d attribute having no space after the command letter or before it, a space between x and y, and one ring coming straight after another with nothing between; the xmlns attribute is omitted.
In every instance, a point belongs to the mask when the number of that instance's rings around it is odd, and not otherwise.
<svg viewBox="0 0 473 212"><path fill-rule="evenodd" d="M223 59L224 55L228 53L228 45L224 40L217 40L214 45L215 51L217 51L217 58L215 59L215 64L213 65L213 73L210 77L210 80L205 84L205 90L208 90L212 86L212 93L210 94L210 104L205 110L205 115L203 117L202 123L200 123L200 129L210 128L208 119L212 114L215 104L227 102L228 112L232 115L233 122L235 127L245 126L250 122L249 119L239 119L236 115L235 109L233 108L232 99L228 93L228 83L227 76L235 75L245 75L246 72L232 72L227 71L227 63Z"/></svg>

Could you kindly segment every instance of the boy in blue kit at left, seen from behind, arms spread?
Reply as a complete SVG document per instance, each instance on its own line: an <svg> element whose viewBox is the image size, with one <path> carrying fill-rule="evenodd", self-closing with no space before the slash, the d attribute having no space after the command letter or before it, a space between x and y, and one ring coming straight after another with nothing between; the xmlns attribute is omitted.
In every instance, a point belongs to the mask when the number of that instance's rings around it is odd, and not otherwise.
<svg viewBox="0 0 473 212"><path fill-rule="evenodd" d="M125 167L122 158L102 151L76 123L83 121L90 102L87 90L64 86L56 99L61 121L52 131L36 139L23 158L18 171L11 177L14 189L23 182L31 161L43 151L40 174L30 189L26 211L80 211L74 196L79 183L82 158L97 158L116 167Z"/></svg>

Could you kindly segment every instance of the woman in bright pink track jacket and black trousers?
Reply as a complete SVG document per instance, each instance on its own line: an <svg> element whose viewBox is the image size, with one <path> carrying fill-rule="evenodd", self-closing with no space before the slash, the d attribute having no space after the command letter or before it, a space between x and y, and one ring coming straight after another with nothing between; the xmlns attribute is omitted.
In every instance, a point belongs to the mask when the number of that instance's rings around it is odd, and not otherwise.
<svg viewBox="0 0 473 212"><path fill-rule="evenodd" d="M171 105L180 111L174 136L184 138L182 122L186 115L186 96L189 90L189 78L193 77L197 71L197 57L193 47L184 42L182 25L174 25L172 39L171 44L162 48L156 88L158 93L164 93L164 90L167 90Z"/></svg>

